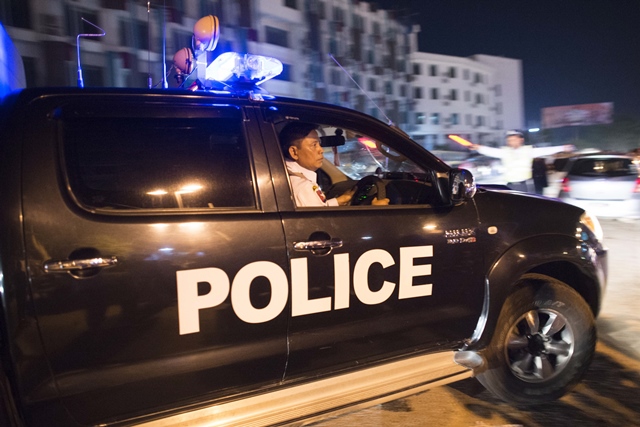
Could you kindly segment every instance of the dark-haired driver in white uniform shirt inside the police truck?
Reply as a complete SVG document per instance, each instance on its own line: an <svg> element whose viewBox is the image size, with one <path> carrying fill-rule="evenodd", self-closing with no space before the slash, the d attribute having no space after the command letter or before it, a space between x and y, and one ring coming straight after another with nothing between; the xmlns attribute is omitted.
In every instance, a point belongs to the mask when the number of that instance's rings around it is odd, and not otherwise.
<svg viewBox="0 0 640 427"><path fill-rule="evenodd" d="M287 172L291 179L293 196L297 206L344 206L353 197L355 188L327 200L316 182L316 171L322 166L324 152L320 137L312 123L292 122L280 132L280 144L286 158ZM372 205L388 205L389 199L374 198Z"/></svg>

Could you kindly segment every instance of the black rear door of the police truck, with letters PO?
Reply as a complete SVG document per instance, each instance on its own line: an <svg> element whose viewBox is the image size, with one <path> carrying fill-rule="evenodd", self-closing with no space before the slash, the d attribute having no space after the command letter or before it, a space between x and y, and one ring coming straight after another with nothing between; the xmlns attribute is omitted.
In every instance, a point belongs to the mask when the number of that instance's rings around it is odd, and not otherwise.
<svg viewBox="0 0 640 427"><path fill-rule="evenodd" d="M79 423L282 378L286 296L267 279L288 260L255 117L201 101L31 110L27 267L49 386Z"/></svg>

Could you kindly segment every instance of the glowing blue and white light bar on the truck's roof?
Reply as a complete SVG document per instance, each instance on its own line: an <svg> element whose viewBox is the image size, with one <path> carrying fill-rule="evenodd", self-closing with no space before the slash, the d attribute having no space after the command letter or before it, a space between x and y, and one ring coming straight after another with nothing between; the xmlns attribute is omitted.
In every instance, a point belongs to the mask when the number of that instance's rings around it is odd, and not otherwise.
<svg viewBox="0 0 640 427"><path fill-rule="evenodd" d="M259 85L282 73L282 62L262 55L227 52L207 67L206 79L226 85Z"/></svg>

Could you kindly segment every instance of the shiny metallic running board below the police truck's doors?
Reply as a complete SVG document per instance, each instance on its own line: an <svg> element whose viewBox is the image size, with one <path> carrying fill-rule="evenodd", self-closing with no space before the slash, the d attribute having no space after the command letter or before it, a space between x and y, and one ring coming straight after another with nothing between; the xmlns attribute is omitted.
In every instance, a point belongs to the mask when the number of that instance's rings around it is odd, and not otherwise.
<svg viewBox="0 0 640 427"><path fill-rule="evenodd" d="M469 378L454 352L403 359L310 383L281 388L139 424L144 427L271 426L317 421Z"/></svg>

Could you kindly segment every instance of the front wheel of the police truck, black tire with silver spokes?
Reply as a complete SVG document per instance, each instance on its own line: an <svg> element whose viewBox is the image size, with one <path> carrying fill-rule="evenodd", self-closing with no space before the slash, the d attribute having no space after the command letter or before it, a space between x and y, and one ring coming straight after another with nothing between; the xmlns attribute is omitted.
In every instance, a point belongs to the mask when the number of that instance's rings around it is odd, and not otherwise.
<svg viewBox="0 0 640 427"><path fill-rule="evenodd" d="M595 320L562 282L528 275L517 286L476 377L509 403L536 405L560 398L582 379L595 352Z"/></svg>

